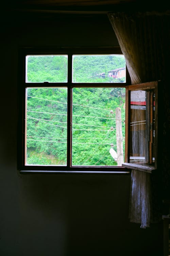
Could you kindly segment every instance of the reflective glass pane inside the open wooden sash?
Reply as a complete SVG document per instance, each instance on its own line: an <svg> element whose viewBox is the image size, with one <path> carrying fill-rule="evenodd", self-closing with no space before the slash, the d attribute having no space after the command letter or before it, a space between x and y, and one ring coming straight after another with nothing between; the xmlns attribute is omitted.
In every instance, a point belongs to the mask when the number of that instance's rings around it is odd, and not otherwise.
<svg viewBox="0 0 170 256"><path fill-rule="evenodd" d="M154 165L155 91L131 91L130 162Z"/></svg>

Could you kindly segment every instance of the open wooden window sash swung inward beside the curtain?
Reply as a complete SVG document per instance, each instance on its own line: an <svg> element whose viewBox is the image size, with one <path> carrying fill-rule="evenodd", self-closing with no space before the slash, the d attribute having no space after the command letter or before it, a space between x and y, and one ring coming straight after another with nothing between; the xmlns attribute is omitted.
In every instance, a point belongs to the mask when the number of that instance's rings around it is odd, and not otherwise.
<svg viewBox="0 0 170 256"><path fill-rule="evenodd" d="M157 169L157 86L157 81L126 86L126 168Z"/></svg>

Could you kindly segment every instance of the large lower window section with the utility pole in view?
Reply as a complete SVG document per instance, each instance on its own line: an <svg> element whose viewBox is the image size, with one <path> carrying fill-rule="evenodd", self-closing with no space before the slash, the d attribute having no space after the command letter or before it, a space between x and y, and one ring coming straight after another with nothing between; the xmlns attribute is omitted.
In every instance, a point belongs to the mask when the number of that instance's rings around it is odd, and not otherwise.
<svg viewBox="0 0 170 256"><path fill-rule="evenodd" d="M125 88L73 88L72 165L117 166L124 156L124 121Z"/></svg>

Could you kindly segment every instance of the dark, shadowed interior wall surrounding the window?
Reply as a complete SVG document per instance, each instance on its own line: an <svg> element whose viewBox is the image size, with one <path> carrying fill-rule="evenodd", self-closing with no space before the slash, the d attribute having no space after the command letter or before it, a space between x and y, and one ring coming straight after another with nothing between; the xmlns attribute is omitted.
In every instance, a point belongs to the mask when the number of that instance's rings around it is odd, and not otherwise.
<svg viewBox="0 0 170 256"><path fill-rule="evenodd" d="M130 175L17 170L19 47L118 46L107 16L15 12L1 35L0 255L163 255L162 222L129 222Z"/></svg>

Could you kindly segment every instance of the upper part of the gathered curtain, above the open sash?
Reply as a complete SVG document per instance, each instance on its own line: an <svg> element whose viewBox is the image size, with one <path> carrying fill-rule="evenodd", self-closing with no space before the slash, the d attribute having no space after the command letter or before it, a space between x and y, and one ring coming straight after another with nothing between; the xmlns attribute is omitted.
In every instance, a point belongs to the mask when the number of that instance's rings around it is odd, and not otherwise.
<svg viewBox="0 0 170 256"><path fill-rule="evenodd" d="M132 84L167 76L170 12L108 13Z"/></svg>

